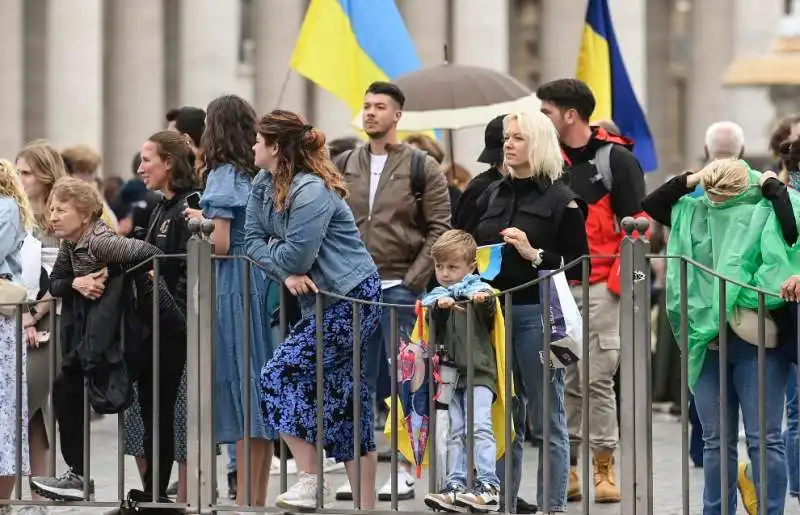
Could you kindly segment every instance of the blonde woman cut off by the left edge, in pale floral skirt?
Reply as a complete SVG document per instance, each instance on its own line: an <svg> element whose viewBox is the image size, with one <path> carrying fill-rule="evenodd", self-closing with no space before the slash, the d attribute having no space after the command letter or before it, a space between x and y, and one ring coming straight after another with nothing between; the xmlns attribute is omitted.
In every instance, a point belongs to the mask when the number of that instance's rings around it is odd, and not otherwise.
<svg viewBox="0 0 800 515"><path fill-rule="evenodd" d="M0 159L0 277L19 283L22 278L20 249L25 235L33 229L34 218L28 197L14 166ZM1 301L1 299L0 299ZM0 499L9 499L14 487L14 474L28 473L28 425L22 424L17 435L18 419L28 419L25 365L17 363L17 347L26 361L26 345L17 342L16 321L0 314ZM22 367L22 383L17 384L17 369ZM17 388L22 388L22 406L17 413ZM17 437L22 439L17 447ZM22 449L22 470L17 470L16 449ZM0 506L0 513L11 513L11 507Z"/></svg>

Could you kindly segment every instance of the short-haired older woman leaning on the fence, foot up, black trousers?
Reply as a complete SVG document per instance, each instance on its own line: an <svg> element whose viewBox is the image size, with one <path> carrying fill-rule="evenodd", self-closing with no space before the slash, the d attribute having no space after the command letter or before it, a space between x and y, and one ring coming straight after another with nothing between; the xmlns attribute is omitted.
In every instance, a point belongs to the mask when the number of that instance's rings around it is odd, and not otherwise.
<svg viewBox="0 0 800 515"><path fill-rule="evenodd" d="M50 274L50 292L54 297L64 300L61 321L64 364L53 387L53 402L61 437L61 453L70 470L55 478L32 477L30 481L32 490L37 494L55 500L83 499L84 370L78 359L79 347L75 345L75 340L88 345L84 342L88 336L84 338L76 331L83 328L96 332L102 328L90 328L87 320L81 320L86 318L85 311L81 310L91 309L95 301L103 298L110 277L159 253L159 249L153 245L118 236L100 219L102 212L103 201L90 183L70 177L56 182L50 198L50 221L62 244ZM163 283L159 286L162 325L180 327L181 321L185 324L185 317ZM146 276L144 281L137 280L136 287L141 294L139 301L142 304L152 301L154 288ZM113 336L116 327L112 324L108 332ZM126 341L126 348L135 344ZM148 397L151 398L151 395ZM93 491L91 483L89 491Z"/></svg>

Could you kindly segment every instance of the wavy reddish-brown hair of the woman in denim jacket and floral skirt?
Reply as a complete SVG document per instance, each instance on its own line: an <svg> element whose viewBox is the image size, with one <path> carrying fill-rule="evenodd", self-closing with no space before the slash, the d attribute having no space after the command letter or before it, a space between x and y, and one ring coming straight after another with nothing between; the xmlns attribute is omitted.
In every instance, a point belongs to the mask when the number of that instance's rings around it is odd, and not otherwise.
<svg viewBox="0 0 800 515"><path fill-rule="evenodd" d="M321 130L291 111L276 109L261 119L258 133L266 145L278 146L278 162L272 172L275 209L286 208L289 187L298 172L318 175L325 186L342 198L347 196L344 179L330 160Z"/></svg>

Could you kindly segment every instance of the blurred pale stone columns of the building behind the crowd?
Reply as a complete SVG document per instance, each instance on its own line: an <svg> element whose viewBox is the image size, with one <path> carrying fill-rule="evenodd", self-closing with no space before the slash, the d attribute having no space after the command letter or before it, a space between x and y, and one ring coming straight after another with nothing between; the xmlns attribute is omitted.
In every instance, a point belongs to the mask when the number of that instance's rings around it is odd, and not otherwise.
<svg viewBox="0 0 800 515"><path fill-rule="evenodd" d="M705 128L731 119L766 152L774 109L764 88L722 85L732 60L769 48L785 0L609 0L628 73L656 137L661 171L702 155ZM397 0L425 66L451 60L535 87L572 76L586 0ZM170 107L239 94L259 114L293 109L330 138L351 113L288 71L307 0L2 0L0 156L47 138L102 150L127 177L142 140ZM456 136L472 170L482 129ZM654 178L657 175L653 176Z"/></svg>

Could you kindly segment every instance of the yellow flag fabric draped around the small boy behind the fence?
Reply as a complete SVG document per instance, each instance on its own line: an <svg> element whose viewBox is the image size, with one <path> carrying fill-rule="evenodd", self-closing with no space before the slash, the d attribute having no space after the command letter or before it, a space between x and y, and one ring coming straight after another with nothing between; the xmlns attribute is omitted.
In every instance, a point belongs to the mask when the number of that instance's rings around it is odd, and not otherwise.
<svg viewBox="0 0 800 515"><path fill-rule="evenodd" d="M505 392L505 381L506 381L506 329L505 329L505 319L503 318L503 312L500 309L500 301L495 299L496 309L495 309L495 317L494 317L494 325L492 327L492 345L494 347L495 359L497 363L497 398L492 405L492 431L494 432L495 441L497 442L497 459L500 459L506 452L506 419L505 419L505 410L506 410L506 392ZM425 310L426 311L426 310ZM429 335L429 328L427 323L427 315L426 312L423 312L423 316L418 318L417 323L414 325L414 330L411 333L411 341L419 342L420 336L422 337L423 341L428 341ZM422 321L422 328L420 328L420 320ZM422 329L422 334L420 335L420 329ZM431 350L431 352L433 352ZM387 398L385 400L386 405L391 408L391 398ZM431 407L431 412L429 415L431 417L435 416L435 413ZM409 436L408 428L406 428L405 424L405 414L403 412L403 407L401 403L398 402L398 409L397 409L397 420L398 420L398 431L397 431L397 447L398 450L403 454L403 456L410 462L416 463L416 458L414 457L414 449L411 446L411 438ZM392 420L389 417L389 420L386 421L386 427L384 429L384 434L386 438L391 440L392 437ZM430 442L431 439L435 438L436 435L429 434L428 435L428 445L425 446L425 454L422 459L422 467L427 467L429 464L429 449L431 447ZM514 439L514 428L511 428L511 438Z"/></svg>

